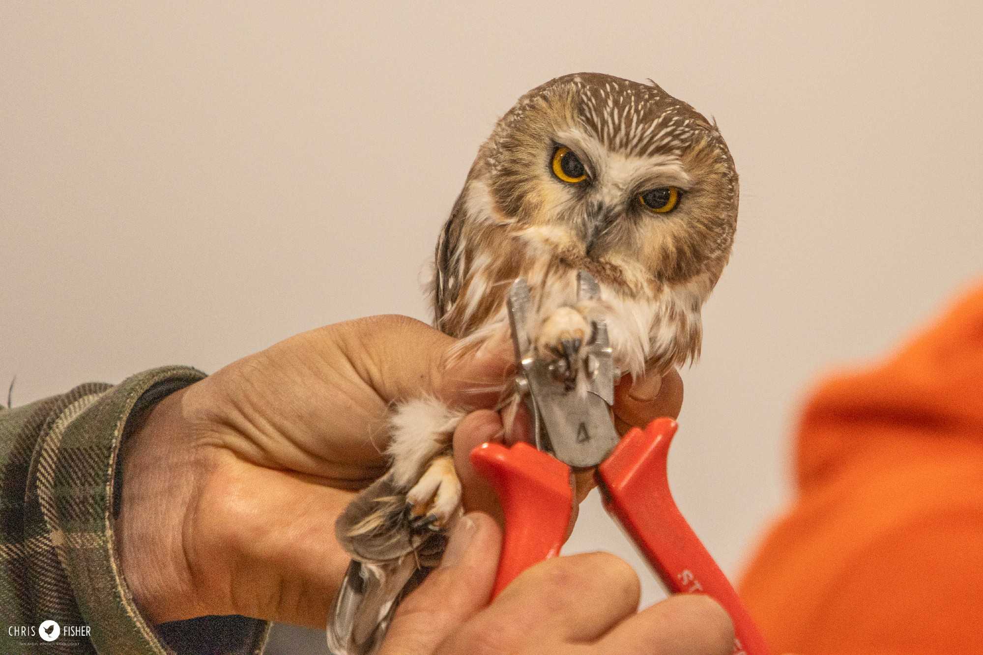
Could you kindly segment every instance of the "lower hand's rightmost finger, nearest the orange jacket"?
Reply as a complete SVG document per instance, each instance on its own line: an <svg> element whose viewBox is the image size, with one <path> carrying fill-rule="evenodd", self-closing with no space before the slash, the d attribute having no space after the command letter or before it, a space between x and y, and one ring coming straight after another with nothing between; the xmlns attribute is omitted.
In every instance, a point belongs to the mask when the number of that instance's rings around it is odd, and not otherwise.
<svg viewBox="0 0 983 655"><path fill-rule="evenodd" d="M598 645L601 652L623 655L730 655L734 630L717 601L680 594L625 620Z"/></svg>

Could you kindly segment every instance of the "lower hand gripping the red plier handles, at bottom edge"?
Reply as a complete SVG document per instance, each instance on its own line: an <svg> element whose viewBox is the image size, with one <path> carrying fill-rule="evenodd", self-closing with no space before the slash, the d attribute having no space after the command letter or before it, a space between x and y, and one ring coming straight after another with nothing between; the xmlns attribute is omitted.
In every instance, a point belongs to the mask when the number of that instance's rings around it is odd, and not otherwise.
<svg viewBox="0 0 983 655"><path fill-rule="evenodd" d="M542 562L488 605L500 535L481 513L459 521L443 564L400 605L379 655L733 652L733 626L715 601L677 595L636 612L638 576L607 553Z"/></svg>

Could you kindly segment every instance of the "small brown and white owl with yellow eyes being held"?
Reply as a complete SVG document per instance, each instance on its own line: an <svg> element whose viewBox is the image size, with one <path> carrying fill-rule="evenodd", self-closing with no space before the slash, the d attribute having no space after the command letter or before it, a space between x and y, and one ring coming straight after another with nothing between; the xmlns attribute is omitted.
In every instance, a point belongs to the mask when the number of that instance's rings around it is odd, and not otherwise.
<svg viewBox="0 0 983 655"><path fill-rule="evenodd" d="M506 298L528 281L540 357L571 380L603 315L614 365L665 372L699 355L700 310L730 256L733 160L715 123L655 83L596 73L532 89L479 149L436 246L434 325L467 351L507 332ZM577 271L601 300L577 301ZM502 384L507 414L519 404ZM451 440L468 407L394 408L391 467L336 523L352 555L328 643L371 653L401 594L439 562L460 513ZM505 425L510 425L505 420Z"/></svg>

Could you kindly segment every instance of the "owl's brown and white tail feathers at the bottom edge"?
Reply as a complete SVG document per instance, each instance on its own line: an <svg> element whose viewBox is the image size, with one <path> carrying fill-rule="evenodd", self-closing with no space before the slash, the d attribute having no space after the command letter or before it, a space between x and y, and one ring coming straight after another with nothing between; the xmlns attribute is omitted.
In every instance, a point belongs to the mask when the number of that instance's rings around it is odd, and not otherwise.
<svg viewBox="0 0 983 655"><path fill-rule="evenodd" d="M327 647L334 655L374 655L399 600L415 587L416 559L372 565L352 560L331 609Z"/></svg>

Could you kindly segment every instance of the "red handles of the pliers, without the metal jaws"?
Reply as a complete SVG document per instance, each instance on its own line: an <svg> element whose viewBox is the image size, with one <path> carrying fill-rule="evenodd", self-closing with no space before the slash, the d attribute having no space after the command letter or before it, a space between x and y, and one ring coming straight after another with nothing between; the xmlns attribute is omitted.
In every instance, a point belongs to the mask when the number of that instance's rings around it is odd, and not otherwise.
<svg viewBox="0 0 983 655"><path fill-rule="evenodd" d="M670 592L707 594L723 606L734 625L735 655L767 655L764 637L669 493L666 458L676 427L657 419L621 439L597 470L605 508ZM505 513L497 595L529 566L559 554L573 503L570 468L526 444L485 444L471 452L471 461Z"/></svg>

